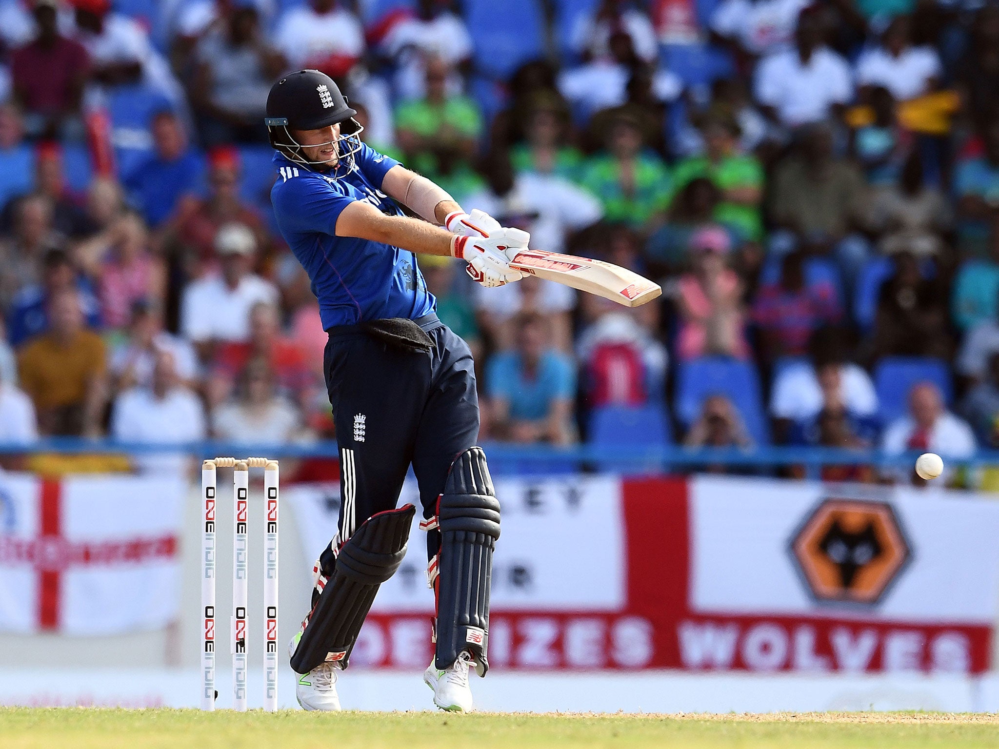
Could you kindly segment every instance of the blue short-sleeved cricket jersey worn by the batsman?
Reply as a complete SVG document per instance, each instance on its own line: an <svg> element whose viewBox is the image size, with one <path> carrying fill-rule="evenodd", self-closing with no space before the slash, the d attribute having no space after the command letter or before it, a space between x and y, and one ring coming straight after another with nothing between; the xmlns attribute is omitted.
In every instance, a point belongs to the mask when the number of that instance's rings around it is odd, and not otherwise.
<svg viewBox="0 0 999 749"><path fill-rule="evenodd" d="M275 153L278 181L271 203L278 228L312 281L324 330L385 318L416 320L434 312L437 301L408 250L381 242L337 237L337 219L354 201L402 216L381 191L395 159L362 146L356 168L340 179L312 172Z"/></svg>

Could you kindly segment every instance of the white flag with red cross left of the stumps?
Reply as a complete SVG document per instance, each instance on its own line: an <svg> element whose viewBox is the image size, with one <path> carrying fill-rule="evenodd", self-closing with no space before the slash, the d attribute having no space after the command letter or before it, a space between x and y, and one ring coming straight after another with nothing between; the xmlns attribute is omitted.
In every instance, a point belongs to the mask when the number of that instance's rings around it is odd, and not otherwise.
<svg viewBox="0 0 999 749"><path fill-rule="evenodd" d="M158 629L180 608L181 479L0 473L0 631Z"/></svg>

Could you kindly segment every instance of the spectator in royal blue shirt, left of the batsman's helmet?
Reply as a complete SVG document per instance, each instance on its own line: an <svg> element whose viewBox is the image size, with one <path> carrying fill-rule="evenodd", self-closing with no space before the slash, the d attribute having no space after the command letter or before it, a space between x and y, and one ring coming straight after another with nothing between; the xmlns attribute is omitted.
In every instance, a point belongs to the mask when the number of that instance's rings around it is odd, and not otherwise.
<svg viewBox="0 0 999 749"><path fill-rule="evenodd" d="M188 143L177 115L159 112L153 117L155 153L129 179L126 187L146 223L158 229L181 199L204 192L205 159Z"/></svg>

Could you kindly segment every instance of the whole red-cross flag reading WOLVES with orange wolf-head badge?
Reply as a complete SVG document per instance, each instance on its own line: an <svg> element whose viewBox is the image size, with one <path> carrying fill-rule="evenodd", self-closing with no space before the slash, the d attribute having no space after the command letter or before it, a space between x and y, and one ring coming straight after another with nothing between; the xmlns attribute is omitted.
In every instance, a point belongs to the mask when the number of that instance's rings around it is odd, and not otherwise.
<svg viewBox="0 0 999 749"><path fill-rule="evenodd" d="M501 479L491 664L808 674L980 673L999 614L999 503L879 486L721 478ZM294 493L293 493L294 492ZM325 492L325 493L324 493ZM286 492L306 545L337 488ZM416 501L407 485L405 498ZM352 656L430 662L414 529Z"/></svg>

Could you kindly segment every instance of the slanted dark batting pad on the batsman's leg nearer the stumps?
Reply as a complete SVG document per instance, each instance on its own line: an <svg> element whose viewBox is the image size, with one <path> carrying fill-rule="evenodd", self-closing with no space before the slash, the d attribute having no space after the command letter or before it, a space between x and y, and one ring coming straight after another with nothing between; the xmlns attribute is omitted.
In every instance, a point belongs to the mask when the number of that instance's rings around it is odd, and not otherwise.
<svg viewBox="0 0 999 749"><path fill-rule="evenodd" d="M292 669L309 673L323 661L347 668L361 625L379 586L399 569L416 507L406 504L365 520L337 555L333 576L323 588L302 633Z"/></svg>

